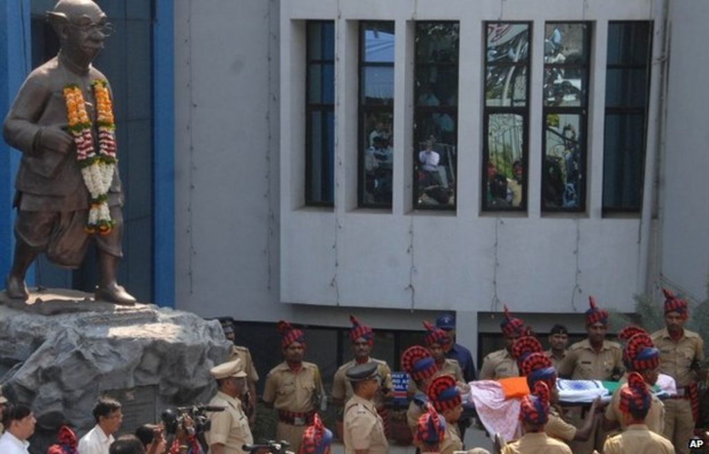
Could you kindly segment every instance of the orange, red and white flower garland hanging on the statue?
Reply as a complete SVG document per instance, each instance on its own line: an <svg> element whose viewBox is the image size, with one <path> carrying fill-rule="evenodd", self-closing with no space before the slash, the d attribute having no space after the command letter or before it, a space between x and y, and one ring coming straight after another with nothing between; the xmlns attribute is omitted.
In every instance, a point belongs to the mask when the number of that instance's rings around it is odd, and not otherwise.
<svg viewBox="0 0 709 454"><path fill-rule="evenodd" d="M96 98L96 125L99 128L99 153L94 150L91 120L86 113L82 89L72 84L64 87L64 98L69 117L69 132L77 145L77 162L82 169L86 189L91 194L89 218L84 230L101 235L111 233L115 221L108 210L108 188L116 171L116 123L113 118L108 82L97 79L91 83Z"/></svg>

